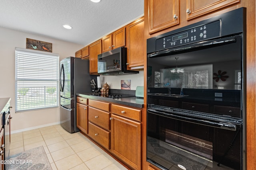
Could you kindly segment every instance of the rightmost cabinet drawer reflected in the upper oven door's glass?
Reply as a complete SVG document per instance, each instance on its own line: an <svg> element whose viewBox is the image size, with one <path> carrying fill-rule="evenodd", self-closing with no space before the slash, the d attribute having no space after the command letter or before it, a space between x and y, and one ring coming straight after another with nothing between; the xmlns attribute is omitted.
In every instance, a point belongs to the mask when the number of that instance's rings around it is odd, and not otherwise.
<svg viewBox="0 0 256 170"><path fill-rule="evenodd" d="M241 118L240 107L230 107L230 106L214 106L214 113L218 115L230 115L232 117Z"/></svg>

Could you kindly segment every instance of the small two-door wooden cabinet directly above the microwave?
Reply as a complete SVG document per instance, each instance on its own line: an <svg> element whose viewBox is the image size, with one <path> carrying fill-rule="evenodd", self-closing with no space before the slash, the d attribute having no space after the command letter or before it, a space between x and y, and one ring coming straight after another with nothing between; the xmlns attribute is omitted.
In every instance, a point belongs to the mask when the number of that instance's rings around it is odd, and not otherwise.
<svg viewBox="0 0 256 170"><path fill-rule="evenodd" d="M125 46L125 27L102 38L102 53Z"/></svg>

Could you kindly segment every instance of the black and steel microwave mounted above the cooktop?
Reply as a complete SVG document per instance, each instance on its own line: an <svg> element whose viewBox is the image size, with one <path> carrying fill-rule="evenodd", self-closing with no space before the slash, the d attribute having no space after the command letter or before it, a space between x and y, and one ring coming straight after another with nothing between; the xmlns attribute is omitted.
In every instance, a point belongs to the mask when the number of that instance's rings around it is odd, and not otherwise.
<svg viewBox="0 0 256 170"><path fill-rule="evenodd" d="M135 70L127 70L127 49L119 47L98 55L98 74L118 75L136 74Z"/></svg>

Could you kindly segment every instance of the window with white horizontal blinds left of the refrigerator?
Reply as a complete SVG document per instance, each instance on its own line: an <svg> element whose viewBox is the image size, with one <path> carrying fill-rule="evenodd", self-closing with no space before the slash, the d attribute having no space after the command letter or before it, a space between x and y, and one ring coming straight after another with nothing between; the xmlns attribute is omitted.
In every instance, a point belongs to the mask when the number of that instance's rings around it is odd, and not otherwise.
<svg viewBox="0 0 256 170"><path fill-rule="evenodd" d="M15 49L16 112L59 106L59 55Z"/></svg>

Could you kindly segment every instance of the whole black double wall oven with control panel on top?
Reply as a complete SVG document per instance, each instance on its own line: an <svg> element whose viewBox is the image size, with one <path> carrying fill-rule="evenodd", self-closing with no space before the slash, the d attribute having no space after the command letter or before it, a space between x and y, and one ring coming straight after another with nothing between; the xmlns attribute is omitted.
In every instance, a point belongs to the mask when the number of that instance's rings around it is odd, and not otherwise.
<svg viewBox="0 0 256 170"><path fill-rule="evenodd" d="M147 161L246 169L246 9L147 40Z"/></svg>

